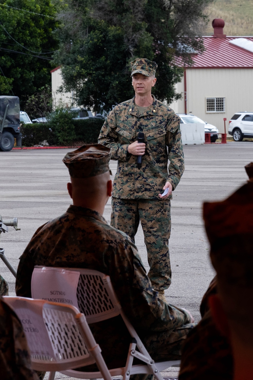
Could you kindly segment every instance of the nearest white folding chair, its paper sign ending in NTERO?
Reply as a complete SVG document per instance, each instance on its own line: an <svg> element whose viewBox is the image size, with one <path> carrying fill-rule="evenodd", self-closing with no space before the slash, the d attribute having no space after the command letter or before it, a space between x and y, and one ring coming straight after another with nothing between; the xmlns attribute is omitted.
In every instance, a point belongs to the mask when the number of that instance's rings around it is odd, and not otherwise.
<svg viewBox="0 0 253 380"><path fill-rule="evenodd" d="M31 354L32 368L69 370L96 363L102 377L112 380L85 316L74 306L41 299L4 296L3 301L19 317Z"/></svg>

